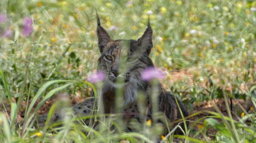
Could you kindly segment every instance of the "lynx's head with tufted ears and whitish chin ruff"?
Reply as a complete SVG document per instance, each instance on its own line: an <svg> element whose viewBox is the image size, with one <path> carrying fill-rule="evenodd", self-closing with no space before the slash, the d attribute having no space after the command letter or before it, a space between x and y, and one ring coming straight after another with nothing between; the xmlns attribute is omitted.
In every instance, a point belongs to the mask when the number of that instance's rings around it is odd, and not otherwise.
<svg viewBox="0 0 256 143"><path fill-rule="evenodd" d="M152 28L148 27L138 40L113 40L100 25L97 15L98 47L101 56L98 69L106 74L104 90L124 88L124 104L136 100L138 90L146 90L147 83L141 80L140 73L153 63L148 57L152 49Z"/></svg>

